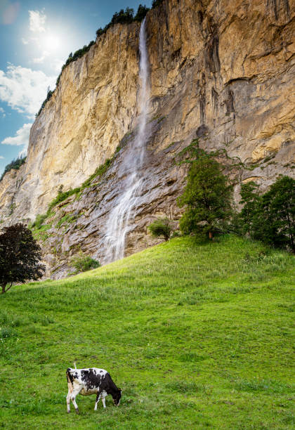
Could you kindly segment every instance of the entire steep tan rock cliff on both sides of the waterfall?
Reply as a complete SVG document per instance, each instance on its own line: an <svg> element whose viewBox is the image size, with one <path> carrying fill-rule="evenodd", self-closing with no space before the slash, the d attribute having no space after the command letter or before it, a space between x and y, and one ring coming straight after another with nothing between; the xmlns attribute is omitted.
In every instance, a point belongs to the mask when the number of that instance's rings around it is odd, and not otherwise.
<svg viewBox="0 0 295 430"><path fill-rule="evenodd" d="M127 254L154 243L146 232L153 216L178 219L185 169L175 157L192 138L237 164L236 195L241 181L266 188L279 174L294 176L294 6L164 0L147 14L151 134ZM64 70L32 126L25 166L0 183L1 219L32 220L60 185L80 185L121 142L106 173L48 219L44 249L55 277L79 249L103 261L105 221L124 189L119 166L136 127L139 27L112 27Z"/></svg>

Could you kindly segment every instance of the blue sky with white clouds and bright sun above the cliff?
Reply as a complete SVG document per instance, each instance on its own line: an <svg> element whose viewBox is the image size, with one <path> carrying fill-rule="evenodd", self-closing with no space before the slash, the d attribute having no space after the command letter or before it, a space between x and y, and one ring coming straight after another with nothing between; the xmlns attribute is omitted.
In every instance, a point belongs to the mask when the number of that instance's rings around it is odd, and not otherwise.
<svg viewBox="0 0 295 430"><path fill-rule="evenodd" d="M47 88L72 51L96 39L114 12L152 0L0 0L0 174L25 154Z"/></svg>

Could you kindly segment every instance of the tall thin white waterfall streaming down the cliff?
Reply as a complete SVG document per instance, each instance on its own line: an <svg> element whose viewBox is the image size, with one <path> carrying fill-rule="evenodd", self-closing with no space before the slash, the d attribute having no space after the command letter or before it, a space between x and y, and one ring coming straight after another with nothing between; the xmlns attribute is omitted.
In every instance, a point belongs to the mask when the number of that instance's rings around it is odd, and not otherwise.
<svg viewBox="0 0 295 430"><path fill-rule="evenodd" d="M124 257L126 235L129 233L131 219L136 216L136 207L140 199L140 190L143 185L143 176L140 168L145 157L145 146L149 137L147 115L149 110L150 86L149 64L147 56L145 19L140 26L139 34L139 79L138 93L138 127L132 144L126 150L123 162L119 167L119 176L126 177L123 182L124 189L110 211L106 224L104 263L110 263Z"/></svg>

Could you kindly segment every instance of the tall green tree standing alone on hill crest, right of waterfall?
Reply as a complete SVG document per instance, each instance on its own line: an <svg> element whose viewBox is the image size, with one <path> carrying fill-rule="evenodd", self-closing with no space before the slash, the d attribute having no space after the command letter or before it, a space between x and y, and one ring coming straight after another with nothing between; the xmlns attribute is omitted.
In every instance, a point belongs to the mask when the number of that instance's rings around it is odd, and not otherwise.
<svg viewBox="0 0 295 430"><path fill-rule="evenodd" d="M213 155L193 149L197 159L191 161L187 185L178 199L178 206L186 207L180 227L185 234L201 233L212 239L232 215L232 185Z"/></svg>

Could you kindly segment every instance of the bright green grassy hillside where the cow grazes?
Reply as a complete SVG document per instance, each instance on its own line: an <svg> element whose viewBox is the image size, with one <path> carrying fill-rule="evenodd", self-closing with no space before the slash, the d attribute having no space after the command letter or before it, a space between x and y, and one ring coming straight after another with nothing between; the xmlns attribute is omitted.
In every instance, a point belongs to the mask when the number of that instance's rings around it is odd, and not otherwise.
<svg viewBox="0 0 295 430"><path fill-rule="evenodd" d="M0 297L0 426L294 428L294 281L284 252L176 238L74 278L14 287ZM95 396L78 396L80 415L72 404L67 415L74 360L110 371L119 408L108 396L94 412Z"/></svg>

